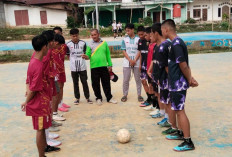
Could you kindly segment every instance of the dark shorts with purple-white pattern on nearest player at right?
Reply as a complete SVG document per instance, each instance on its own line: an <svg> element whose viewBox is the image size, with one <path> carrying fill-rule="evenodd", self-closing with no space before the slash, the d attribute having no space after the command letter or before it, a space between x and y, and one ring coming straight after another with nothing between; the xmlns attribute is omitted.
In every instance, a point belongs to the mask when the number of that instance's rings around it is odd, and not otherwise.
<svg viewBox="0 0 232 157"><path fill-rule="evenodd" d="M187 90L171 92L170 91L170 102L172 110L181 111L184 109L185 99L186 99Z"/></svg>

